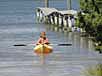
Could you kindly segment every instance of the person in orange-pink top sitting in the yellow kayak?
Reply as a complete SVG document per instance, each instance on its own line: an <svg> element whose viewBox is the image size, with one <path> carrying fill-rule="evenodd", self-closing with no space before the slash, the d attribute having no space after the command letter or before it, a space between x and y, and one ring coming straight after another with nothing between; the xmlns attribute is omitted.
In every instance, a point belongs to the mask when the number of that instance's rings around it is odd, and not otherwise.
<svg viewBox="0 0 102 76"><path fill-rule="evenodd" d="M36 44L37 45L39 45L39 44L47 44L48 45L49 44L49 40L46 37L46 33L45 32L41 32L40 33L40 38L38 39Z"/></svg>

